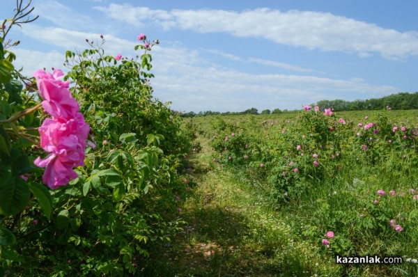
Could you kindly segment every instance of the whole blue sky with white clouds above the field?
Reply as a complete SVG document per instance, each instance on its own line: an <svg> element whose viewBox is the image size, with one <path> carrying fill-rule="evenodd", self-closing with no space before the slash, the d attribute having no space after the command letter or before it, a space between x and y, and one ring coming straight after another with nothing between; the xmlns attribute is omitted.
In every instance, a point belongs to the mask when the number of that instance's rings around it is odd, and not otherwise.
<svg viewBox="0 0 418 277"><path fill-rule="evenodd" d="M2 3L0 19L15 0ZM24 0L24 3L27 3ZM66 50L107 40L134 57L153 47L154 96L178 111L300 109L418 91L418 1L33 0L39 19L16 27L12 51L28 76L63 68ZM11 49L10 49L11 50ZM63 68L64 69L64 68Z"/></svg>

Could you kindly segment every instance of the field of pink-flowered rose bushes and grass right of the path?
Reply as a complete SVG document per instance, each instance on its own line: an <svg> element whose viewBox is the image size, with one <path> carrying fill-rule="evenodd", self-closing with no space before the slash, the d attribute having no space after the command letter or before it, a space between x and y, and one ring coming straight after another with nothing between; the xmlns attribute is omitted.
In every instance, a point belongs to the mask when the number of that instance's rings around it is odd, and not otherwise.
<svg viewBox="0 0 418 277"><path fill-rule="evenodd" d="M277 272L416 276L417 111L323 108L192 121L210 141L212 167L245 176L294 243L308 245L308 253L295 249L296 267L281 262ZM284 248L277 244L272 255ZM402 257L403 263L337 265L336 255Z"/></svg>

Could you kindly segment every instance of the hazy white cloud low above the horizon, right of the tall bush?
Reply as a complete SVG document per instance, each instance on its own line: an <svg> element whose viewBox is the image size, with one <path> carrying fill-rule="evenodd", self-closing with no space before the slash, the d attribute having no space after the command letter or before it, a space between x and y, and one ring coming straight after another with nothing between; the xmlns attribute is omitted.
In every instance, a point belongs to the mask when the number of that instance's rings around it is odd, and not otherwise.
<svg viewBox="0 0 418 277"><path fill-rule="evenodd" d="M398 91L393 86L367 84L358 78L248 74L206 64L198 52L181 47L159 49L153 59L155 95L173 101L173 109L197 112L242 111L253 106L258 109L298 109L302 104L319 100L356 100Z"/></svg>

